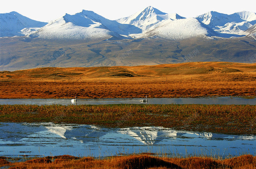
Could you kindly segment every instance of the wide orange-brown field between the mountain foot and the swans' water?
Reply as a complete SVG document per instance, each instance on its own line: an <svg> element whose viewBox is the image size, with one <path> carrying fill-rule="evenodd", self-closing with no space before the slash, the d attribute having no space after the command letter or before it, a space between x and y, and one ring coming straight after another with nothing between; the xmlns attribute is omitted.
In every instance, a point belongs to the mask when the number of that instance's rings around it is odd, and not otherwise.
<svg viewBox="0 0 256 169"><path fill-rule="evenodd" d="M36 68L0 72L0 98L255 96L256 64Z"/></svg>

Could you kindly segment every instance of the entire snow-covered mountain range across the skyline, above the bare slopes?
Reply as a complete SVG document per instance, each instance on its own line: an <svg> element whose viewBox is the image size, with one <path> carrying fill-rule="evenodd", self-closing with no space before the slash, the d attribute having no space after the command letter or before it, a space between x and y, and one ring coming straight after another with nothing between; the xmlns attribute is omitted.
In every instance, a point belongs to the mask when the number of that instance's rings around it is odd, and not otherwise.
<svg viewBox="0 0 256 169"><path fill-rule="evenodd" d="M208 12L195 18L167 14L149 6L129 17L106 19L92 11L65 14L49 23L39 22L17 12L0 14L0 36L29 36L40 39L133 39L156 37L182 40L194 36L233 37L250 34L256 13L232 15ZM254 35L254 34L253 34Z"/></svg>

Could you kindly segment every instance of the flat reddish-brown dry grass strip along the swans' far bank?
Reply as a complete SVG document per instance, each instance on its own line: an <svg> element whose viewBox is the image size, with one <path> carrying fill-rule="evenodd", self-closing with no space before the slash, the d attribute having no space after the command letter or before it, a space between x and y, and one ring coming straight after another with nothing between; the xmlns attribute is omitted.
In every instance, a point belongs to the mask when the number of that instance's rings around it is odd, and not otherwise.
<svg viewBox="0 0 256 169"><path fill-rule="evenodd" d="M145 80L144 80L145 81ZM168 81L144 83L9 82L0 98L149 98L255 96L256 81Z"/></svg>

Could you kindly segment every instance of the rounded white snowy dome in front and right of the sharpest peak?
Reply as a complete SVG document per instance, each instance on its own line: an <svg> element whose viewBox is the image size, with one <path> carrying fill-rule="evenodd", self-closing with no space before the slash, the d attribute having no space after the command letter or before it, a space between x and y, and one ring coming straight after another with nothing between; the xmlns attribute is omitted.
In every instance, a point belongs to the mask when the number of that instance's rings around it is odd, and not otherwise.
<svg viewBox="0 0 256 169"><path fill-rule="evenodd" d="M148 29L143 34L133 35L135 38L159 37L171 40L182 40L195 36L217 36L217 33L206 27L195 18L165 20Z"/></svg>

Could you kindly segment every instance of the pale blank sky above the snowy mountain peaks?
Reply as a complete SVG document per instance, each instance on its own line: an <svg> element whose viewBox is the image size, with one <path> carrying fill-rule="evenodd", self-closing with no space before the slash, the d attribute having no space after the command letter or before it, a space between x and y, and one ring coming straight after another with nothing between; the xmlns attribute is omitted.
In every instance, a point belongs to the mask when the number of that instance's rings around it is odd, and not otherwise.
<svg viewBox="0 0 256 169"><path fill-rule="evenodd" d="M241 11L256 13L255 0L4 0L1 1L0 13L16 11L30 19L49 22L65 13L72 15L84 9L115 20L128 17L147 6L153 6L165 13L177 13L186 18L209 11L226 14Z"/></svg>

